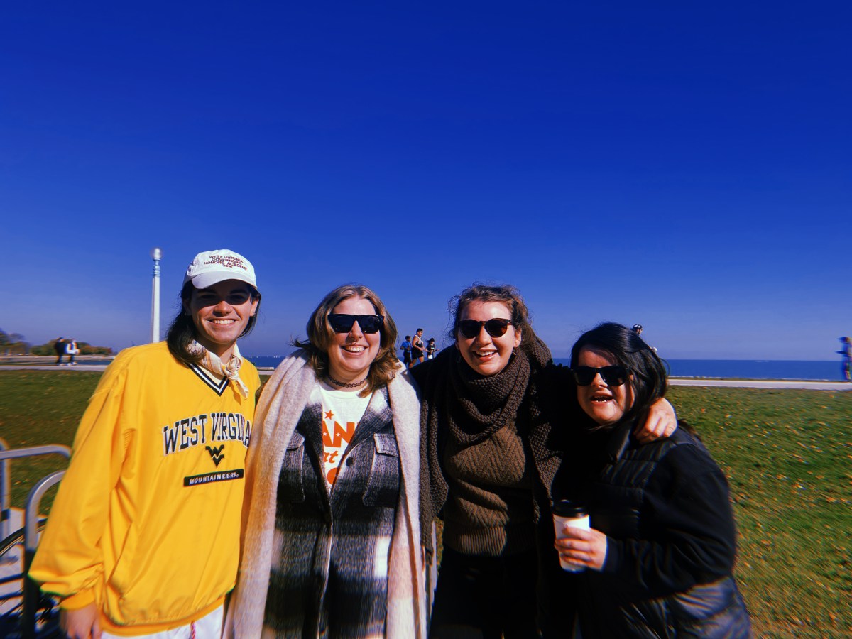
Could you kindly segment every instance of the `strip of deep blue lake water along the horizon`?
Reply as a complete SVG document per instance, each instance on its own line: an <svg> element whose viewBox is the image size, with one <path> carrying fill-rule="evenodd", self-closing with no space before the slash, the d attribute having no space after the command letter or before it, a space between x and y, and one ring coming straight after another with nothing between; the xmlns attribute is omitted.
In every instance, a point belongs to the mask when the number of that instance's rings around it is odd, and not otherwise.
<svg viewBox="0 0 852 639"><path fill-rule="evenodd" d="M246 355L255 366L274 368L284 355ZM568 360L556 359L567 366ZM668 360L671 377L721 379L813 379L840 381L840 360Z"/></svg>

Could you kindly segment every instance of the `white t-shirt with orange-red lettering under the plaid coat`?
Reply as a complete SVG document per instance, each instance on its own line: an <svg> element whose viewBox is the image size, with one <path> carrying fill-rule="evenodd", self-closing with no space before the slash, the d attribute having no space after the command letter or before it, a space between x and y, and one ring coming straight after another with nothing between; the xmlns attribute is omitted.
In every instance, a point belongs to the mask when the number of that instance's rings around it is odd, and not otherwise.
<svg viewBox="0 0 852 639"><path fill-rule="evenodd" d="M352 441L371 397L372 394L359 397L357 392L333 389L325 382L318 382L311 392L310 403L322 406L325 485L330 491L343 453Z"/></svg>

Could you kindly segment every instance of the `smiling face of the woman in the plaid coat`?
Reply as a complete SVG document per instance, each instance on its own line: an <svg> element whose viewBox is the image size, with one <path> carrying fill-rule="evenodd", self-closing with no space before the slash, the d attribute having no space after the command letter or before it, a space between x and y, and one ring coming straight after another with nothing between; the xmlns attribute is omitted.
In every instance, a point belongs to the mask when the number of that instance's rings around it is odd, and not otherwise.
<svg viewBox="0 0 852 639"><path fill-rule="evenodd" d="M331 309L331 313L348 315L375 315L372 302L363 297L347 297ZM326 320L328 321L328 320ZM360 382L370 371L370 365L378 355L382 332L365 333L358 322L348 333L334 333L328 349L328 366L331 377L339 382Z"/></svg>

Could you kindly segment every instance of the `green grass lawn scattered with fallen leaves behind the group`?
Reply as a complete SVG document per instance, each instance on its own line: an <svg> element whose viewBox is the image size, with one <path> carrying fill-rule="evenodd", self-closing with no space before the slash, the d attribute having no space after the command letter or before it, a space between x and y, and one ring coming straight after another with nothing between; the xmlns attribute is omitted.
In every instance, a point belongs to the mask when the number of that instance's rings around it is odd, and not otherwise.
<svg viewBox="0 0 852 639"><path fill-rule="evenodd" d="M0 370L0 437L70 446L98 377ZM757 636L852 635L852 392L674 387L670 399L728 474ZM14 460L14 505L64 466Z"/></svg>

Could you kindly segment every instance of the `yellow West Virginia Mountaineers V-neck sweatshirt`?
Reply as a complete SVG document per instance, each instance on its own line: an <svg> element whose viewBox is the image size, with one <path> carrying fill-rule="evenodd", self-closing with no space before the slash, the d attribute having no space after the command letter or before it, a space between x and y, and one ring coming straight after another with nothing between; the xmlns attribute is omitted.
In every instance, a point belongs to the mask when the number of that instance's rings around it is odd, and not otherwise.
<svg viewBox="0 0 852 639"><path fill-rule="evenodd" d="M165 343L107 367L30 575L68 609L95 602L101 627L134 636L200 619L233 588L245 449L260 387L175 360Z"/></svg>

